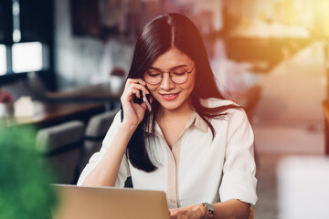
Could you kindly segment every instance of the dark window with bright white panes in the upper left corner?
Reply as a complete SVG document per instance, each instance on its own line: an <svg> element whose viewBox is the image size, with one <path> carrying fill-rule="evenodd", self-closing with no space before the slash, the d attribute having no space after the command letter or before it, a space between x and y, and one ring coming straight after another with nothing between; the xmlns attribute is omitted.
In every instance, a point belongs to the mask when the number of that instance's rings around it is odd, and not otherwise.
<svg viewBox="0 0 329 219"><path fill-rule="evenodd" d="M51 70L53 7L49 2L0 0L0 76Z"/></svg>

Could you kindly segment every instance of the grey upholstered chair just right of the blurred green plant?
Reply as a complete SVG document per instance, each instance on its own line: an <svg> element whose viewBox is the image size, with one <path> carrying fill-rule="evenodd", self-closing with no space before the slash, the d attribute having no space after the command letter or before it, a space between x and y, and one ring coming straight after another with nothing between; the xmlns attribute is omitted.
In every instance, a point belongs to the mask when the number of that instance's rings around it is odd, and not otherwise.
<svg viewBox="0 0 329 219"><path fill-rule="evenodd" d="M53 183L77 182L83 131L84 124L79 120L37 131L36 147L43 155L42 162L49 162L57 173L56 182Z"/></svg>

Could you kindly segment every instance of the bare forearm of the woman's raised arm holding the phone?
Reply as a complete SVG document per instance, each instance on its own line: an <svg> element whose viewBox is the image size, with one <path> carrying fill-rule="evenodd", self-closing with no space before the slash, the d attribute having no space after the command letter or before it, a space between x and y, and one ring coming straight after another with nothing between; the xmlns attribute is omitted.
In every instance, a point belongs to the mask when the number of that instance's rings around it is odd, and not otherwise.
<svg viewBox="0 0 329 219"><path fill-rule="evenodd" d="M122 157L136 127L121 123L114 140L101 162L90 172L83 186L114 186Z"/></svg>

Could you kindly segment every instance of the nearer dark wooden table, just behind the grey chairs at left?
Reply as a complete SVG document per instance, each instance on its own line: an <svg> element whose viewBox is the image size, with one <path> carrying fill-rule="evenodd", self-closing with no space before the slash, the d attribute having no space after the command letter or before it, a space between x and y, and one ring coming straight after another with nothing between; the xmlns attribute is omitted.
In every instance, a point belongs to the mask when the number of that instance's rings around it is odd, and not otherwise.
<svg viewBox="0 0 329 219"><path fill-rule="evenodd" d="M0 119L0 125L35 125L43 128L68 120L87 122L92 115L105 110L101 103L68 103L34 101L35 115L33 117L6 117Z"/></svg>

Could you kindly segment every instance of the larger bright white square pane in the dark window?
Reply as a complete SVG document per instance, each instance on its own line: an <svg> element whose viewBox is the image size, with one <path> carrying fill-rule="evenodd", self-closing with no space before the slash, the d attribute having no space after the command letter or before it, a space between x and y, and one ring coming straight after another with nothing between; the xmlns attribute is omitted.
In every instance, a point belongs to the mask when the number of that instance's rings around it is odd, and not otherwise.
<svg viewBox="0 0 329 219"><path fill-rule="evenodd" d="M12 53L15 73L38 71L43 68L43 50L39 42L14 44Z"/></svg>

